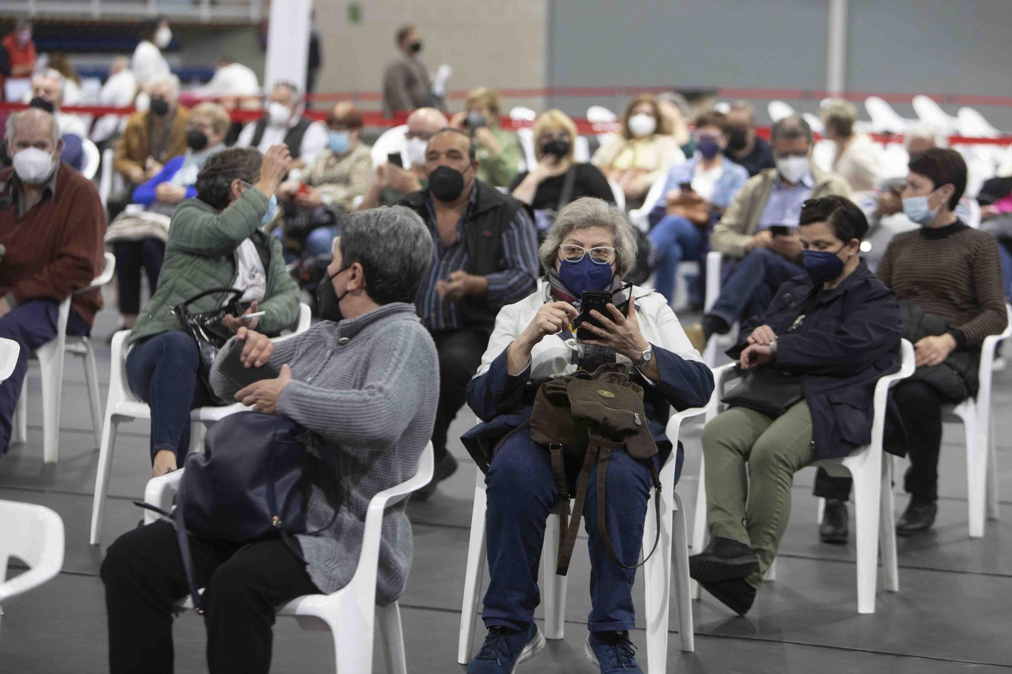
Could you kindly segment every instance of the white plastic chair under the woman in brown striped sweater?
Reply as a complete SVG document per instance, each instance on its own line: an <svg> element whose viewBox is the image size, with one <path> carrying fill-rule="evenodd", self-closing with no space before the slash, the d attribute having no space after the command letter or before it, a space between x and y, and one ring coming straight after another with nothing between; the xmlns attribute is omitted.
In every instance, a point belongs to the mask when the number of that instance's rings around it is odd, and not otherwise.
<svg viewBox="0 0 1012 674"><path fill-rule="evenodd" d="M998 519L998 467L994 428L991 422L991 380L998 342L1012 336L1012 307L1006 305L1009 323L1000 335L984 338L981 345L981 386L977 398L942 409L944 421L961 421L966 437L966 506L969 510L969 537L984 536L985 514Z"/></svg>

